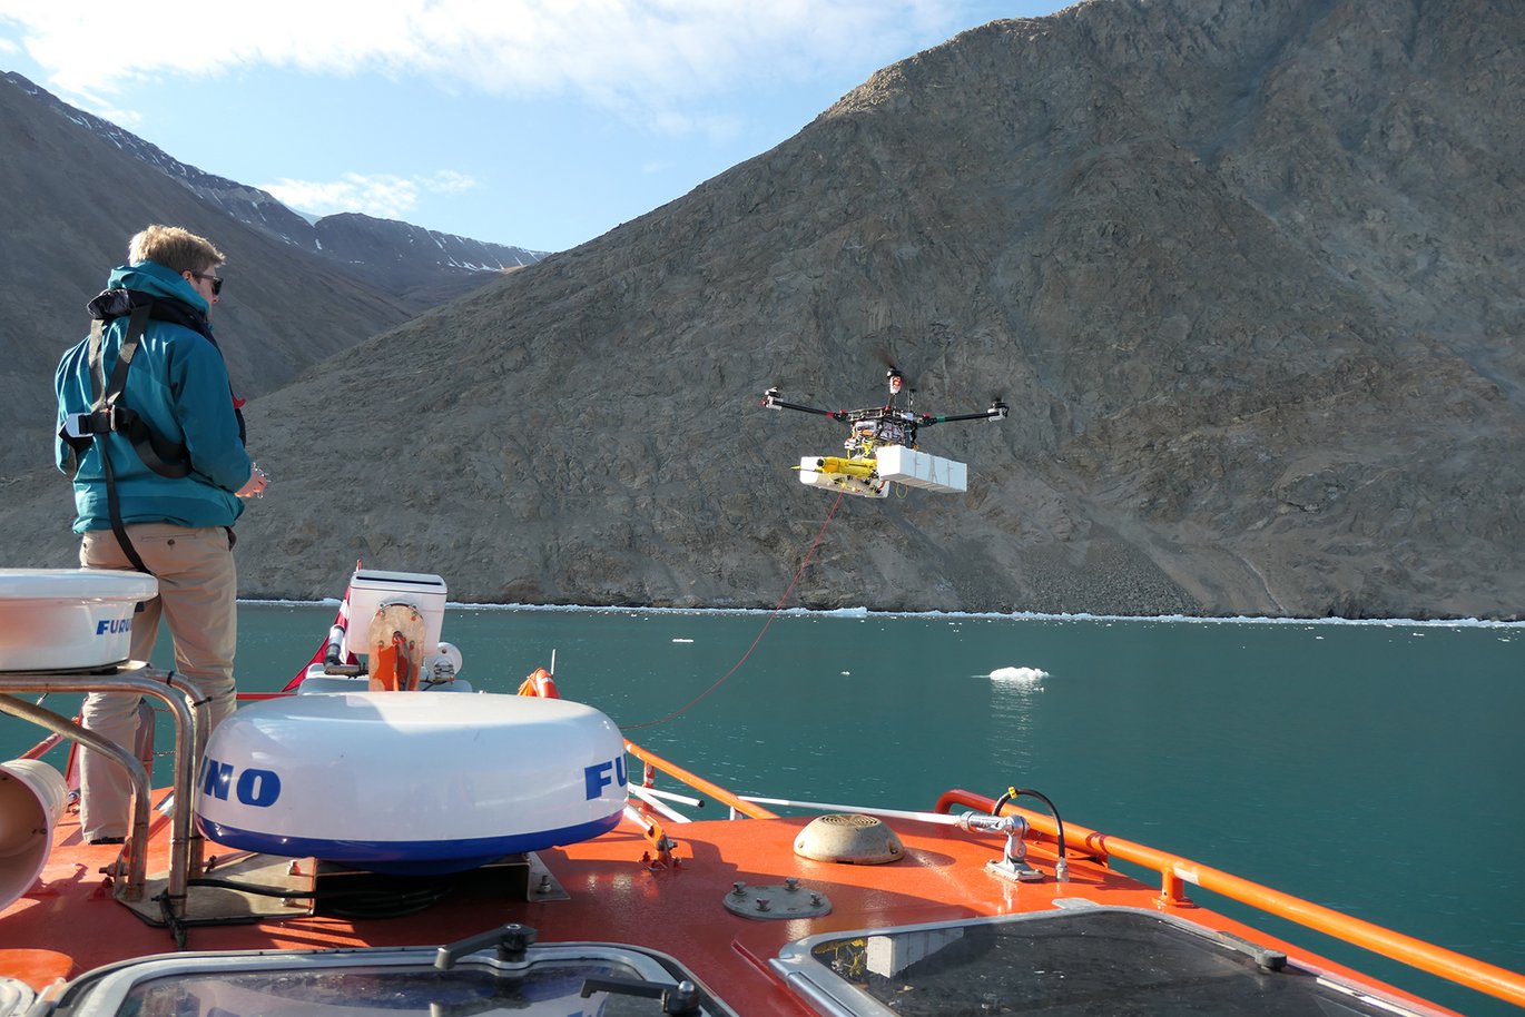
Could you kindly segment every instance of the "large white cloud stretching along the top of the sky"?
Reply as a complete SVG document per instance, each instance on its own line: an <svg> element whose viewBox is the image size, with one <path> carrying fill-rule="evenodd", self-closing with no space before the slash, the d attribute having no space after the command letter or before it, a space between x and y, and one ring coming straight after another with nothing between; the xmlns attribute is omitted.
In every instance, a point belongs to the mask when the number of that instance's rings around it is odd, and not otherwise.
<svg viewBox="0 0 1525 1017"><path fill-rule="evenodd" d="M102 30L99 6L0 0L0 46L20 44L73 95L256 67L380 72L450 90L573 95L653 130L715 134L735 128L692 111L706 99L872 63L964 17L938 0L140 0Z"/></svg>

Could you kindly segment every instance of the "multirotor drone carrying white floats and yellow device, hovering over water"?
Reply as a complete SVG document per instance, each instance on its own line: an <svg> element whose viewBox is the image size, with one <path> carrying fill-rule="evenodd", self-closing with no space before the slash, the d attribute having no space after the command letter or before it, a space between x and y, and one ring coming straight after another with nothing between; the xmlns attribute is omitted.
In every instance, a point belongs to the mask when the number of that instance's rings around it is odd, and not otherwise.
<svg viewBox="0 0 1525 1017"><path fill-rule="evenodd" d="M904 375L895 367L884 372L889 403L863 410L822 410L813 406L785 403L776 387L762 393L762 406L770 410L799 410L830 416L849 425L842 442L846 456L805 456L799 460L799 480L816 488L836 488L845 494L881 499L889 485L903 483L924 491L958 494L967 489L967 467L962 462L929 456L917 450L917 432L933 424L955 421L1003 421L1010 407L994 399L982 413L933 416L912 409L915 392L904 387ZM901 392L906 395L900 406Z"/></svg>

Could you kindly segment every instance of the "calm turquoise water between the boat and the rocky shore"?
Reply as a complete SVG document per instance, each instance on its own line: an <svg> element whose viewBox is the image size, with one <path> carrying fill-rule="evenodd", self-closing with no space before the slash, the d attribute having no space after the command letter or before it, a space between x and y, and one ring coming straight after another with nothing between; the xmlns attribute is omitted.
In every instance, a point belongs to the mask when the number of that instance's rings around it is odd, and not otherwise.
<svg viewBox="0 0 1525 1017"><path fill-rule="evenodd" d="M281 688L332 611L244 605L241 688ZM555 651L564 697L743 794L1031 787L1068 822L1525 970L1525 627L453 607L444 637L500 692ZM991 677L1014 668L1045 677Z"/></svg>

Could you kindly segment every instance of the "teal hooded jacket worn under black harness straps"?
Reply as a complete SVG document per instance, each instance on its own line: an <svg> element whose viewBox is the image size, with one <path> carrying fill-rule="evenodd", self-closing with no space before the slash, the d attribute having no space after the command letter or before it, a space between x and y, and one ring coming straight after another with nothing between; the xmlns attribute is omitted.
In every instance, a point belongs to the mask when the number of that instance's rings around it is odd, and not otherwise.
<svg viewBox="0 0 1525 1017"><path fill-rule="evenodd" d="M233 491L247 483L253 464L244 451L241 419L233 406L223 352L210 340L207 302L181 274L157 262L142 261L111 273L110 290L134 290L172 306L183 320L206 329L148 322L133 366L127 372L122 403L142 416L162 438L186 447L191 473L163 477L149 470L131 442L119 433L104 436L116 476L122 521L175 523L178 526L232 526L244 503ZM127 334L127 316L105 325L102 363L107 378L116 366ZM58 425L72 413L90 410L90 340L64 354L53 377L58 395ZM56 441L55 462L69 471L70 448ZM101 438L78 457L75 473L75 532L111 529L107 509L105 473L101 468Z"/></svg>

